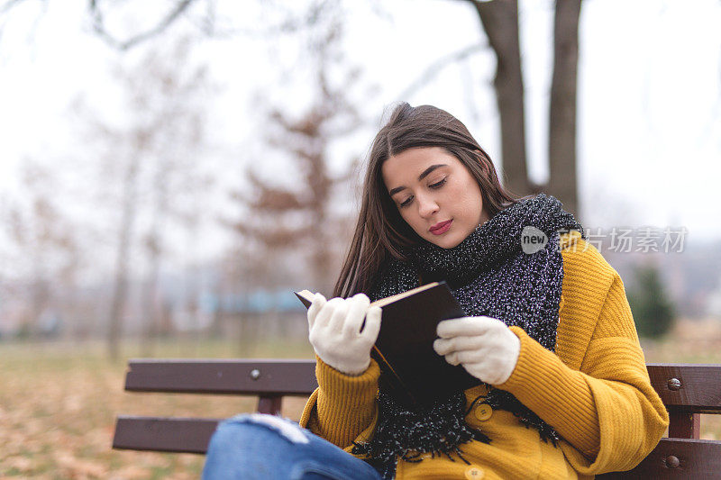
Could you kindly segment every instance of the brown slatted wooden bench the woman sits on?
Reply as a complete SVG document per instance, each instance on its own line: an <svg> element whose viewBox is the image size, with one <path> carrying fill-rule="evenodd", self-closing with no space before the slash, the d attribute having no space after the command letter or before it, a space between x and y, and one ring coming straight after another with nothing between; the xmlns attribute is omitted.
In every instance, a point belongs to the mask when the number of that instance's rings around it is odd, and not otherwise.
<svg viewBox="0 0 721 480"><path fill-rule="evenodd" d="M318 385L314 360L155 360L129 363L125 390L257 395L258 412L278 414L284 396L308 396ZM721 478L721 441L701 440L700 413L721 413L721 365L647 366L671 415L661 440L634 470L599 478ZM204 454L218 421L117 418L113 448Z"/></svg>

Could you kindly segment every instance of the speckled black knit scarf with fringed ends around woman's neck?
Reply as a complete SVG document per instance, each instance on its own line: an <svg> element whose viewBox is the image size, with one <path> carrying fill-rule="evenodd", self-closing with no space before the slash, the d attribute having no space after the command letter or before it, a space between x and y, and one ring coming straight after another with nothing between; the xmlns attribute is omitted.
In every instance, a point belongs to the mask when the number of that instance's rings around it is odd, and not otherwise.
<svg viewBox="0 0 721 480"><path fill-rule="evenodd" d="M548 243L533 254L522 249L521 233L527 226L543 231ZM517 325L545 349L554 351L558 326L563 259L559 249L562 231L583 229L573 215L561 209L552 196L537 195L518 201L480 225L452 249L425 242L407 252L409 261L392 260L370 291L372 300L406 292L424 283L445 280L468 315L497 318ZM397 458L419 462L432 456L462 456L461 444L472 439L488 443L482 432L470 428L465 416L479 400L494 409L513 412L526 427L537 429L544 441L556 444L553 428L512 394L491 389L466 408L463 392L433 405L407 407L390 388L379 383L379 421L374 437L356 444L384 478L393 478ZM466 463L468 463L466 461Z"/></svg>

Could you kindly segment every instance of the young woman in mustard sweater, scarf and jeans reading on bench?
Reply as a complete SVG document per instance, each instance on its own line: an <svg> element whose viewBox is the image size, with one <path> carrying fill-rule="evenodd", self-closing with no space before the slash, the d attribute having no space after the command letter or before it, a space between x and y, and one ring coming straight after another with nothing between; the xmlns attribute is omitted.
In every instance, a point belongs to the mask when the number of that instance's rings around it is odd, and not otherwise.
<svg viewBox="0 0 721 480"><path fill-rule="evenodd" d="M434 349L479 385L409 406L370 358L370 300L436 280L469 316L439 323ZM433 106L399 104L376 136L333 297L308 310L319 387L307 430L226 421L207 478L592 477L634 467L668 425L616 271L555 198L508 194Z"/></svg>

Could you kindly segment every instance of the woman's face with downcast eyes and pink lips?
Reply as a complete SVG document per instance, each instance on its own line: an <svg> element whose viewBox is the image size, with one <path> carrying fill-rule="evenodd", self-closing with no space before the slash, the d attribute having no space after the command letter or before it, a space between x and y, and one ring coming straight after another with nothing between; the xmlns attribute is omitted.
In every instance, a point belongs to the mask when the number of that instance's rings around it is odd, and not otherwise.
<svg viewBox="0 0 721 480"><path fill-rule="evenodd" d="M443 249L488 220L476 179L441 147L407 149L388 158L381 174L403 220Z"/></svg>

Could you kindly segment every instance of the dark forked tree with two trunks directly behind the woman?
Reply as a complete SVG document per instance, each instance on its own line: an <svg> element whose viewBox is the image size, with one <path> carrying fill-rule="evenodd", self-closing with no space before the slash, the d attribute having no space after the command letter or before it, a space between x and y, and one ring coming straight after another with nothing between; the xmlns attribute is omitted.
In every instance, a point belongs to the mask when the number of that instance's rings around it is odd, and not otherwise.
<svg viewBox="0 0 721 480"><path fill-rule="evenodd" d="M518 37L517 0L470 0L496 53L494 81L501 122L501 148L507 186L518 195L547 191L571 213L580 212L576 176L576 77L581 0L557 0L553 34L553 77L549 114L547 185L528 178L525 154L524 82Z"/></svg>

